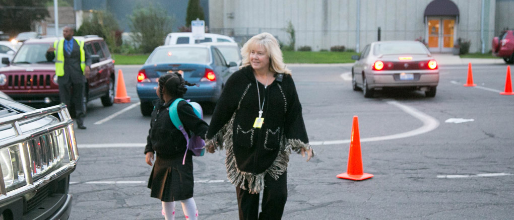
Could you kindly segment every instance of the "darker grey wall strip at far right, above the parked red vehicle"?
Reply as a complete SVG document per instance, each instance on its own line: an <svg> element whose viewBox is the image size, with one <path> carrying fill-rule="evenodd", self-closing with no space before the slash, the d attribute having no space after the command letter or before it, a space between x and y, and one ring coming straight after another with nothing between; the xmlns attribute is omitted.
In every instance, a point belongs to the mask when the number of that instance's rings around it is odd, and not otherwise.
<svg viewBox="0 0 514 220"><path fill-rule="evenodd" d="M505 30L514 29L514 0L496 0L494 36Z"/></svg>

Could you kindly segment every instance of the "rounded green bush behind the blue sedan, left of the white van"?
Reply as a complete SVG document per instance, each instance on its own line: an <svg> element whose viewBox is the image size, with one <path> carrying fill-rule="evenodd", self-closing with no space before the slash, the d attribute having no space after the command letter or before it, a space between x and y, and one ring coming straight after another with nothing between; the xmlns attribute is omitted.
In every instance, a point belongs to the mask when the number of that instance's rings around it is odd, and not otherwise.
<svg viewBox="0 0 514 220"><path fill-rule="evenodd" d="M142 52L152 52L162 45L166 35L172 31L173 17L161 8L152 5L136 8L129 16L132 38Z"/></svg>

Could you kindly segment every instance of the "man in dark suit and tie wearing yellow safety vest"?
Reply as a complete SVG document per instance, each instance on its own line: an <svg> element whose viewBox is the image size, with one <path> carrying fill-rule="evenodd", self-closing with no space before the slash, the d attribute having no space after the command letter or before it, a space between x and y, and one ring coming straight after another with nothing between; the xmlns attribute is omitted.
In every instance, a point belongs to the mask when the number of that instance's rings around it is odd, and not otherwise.
<svg viewBox="0 0 514 220"><path fill-rule="evenodd" d="M84 50L84 41L73 38L74 30L66 26L64 39L53 42L46 52L46 59L56 58L56 75L59 84L61 102L75 105L75 120L79 129L86 129L84 117L86 112L85 85L89 76L91 59ZM68 108L69 109L69 108Z"/></svg>

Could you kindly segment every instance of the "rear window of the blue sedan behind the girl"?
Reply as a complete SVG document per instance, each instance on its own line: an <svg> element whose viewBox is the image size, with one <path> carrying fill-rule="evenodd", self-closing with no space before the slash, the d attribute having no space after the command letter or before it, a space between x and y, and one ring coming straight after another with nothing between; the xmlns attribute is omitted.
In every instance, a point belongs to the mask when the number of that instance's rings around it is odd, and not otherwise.
<svg viewBox="0 0 514 220"><path fill-rule="evenodd" d="M150 55L149 63L209 63L209 50L203 47L157 48Z"/></svg>

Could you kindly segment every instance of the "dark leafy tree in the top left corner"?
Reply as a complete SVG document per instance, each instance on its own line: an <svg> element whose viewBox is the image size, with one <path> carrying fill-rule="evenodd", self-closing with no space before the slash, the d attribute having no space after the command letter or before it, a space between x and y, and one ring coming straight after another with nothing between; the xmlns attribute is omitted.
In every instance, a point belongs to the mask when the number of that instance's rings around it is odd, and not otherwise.
<svg viewBox="0 0 514 220"><path fill-rule="evenodd" d="M48 17L45 7L49 0L0 0L0 27L5 33L15 35L30 31L34 21Z"/></svg>

